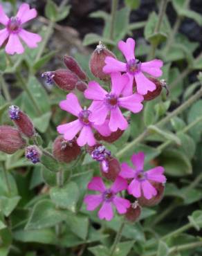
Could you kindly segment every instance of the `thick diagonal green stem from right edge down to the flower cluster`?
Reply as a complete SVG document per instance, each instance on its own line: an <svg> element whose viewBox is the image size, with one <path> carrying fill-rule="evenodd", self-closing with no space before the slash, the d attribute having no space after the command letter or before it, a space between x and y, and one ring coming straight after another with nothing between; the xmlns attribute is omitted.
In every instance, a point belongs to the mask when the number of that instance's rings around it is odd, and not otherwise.
<svg viewBox="0 0 202 256"><path fill-rule="evenodd" d="M177 109L169 113L165 118L157 122L156 126L161 127L163 125L166 125L171 118L173 118L174 116L177 116L179 113L183 112L185 109L190 107L190 105L196 102L196 100L198 100L201 97L201 95L202 95L202 89L199 89L199 91L197 91L189 100L185 101L183 104L181 104L180 107L178 107ZM120 158L121 156L129 152L131 149L133 149L133 147L137 143L140 143L141 141L145 140L145 138L148 135L149 135L149 129L145 129L145 131L143 131L143 133L140 134L137 138L132 140L131 143L127 143L127 145L123 147L123 149L121 149L120 152L116 154L116 156Z"/></svg>

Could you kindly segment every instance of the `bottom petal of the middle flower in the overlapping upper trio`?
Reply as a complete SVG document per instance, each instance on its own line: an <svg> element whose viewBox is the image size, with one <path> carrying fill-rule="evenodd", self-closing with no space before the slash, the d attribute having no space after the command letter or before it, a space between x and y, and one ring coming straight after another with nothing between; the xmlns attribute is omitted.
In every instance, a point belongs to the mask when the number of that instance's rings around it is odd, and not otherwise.
<svg viewBox="0 0 202 256"><path fill-rule="evenodd" d="M118 128L122 131L127 129L128 122L125 117L122 115L120 109L116 107L115 109L111 109L111 116L109 120L109 129L111 131L117 131Z"/></svg>

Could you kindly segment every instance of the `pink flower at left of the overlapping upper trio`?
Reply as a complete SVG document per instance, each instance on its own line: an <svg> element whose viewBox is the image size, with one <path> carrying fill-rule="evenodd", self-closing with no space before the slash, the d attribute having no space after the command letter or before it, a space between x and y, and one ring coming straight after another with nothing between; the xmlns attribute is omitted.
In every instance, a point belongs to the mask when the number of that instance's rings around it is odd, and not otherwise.
<svg viewBox="0 0 202 256"><path fill-rule="evenodd" d="M68 124L57 127L59 134L64 134L65 140L73 140L80 131L80 136L77 138L77 145L80 147L86 144L93 146L96 143L92 131L93 128L102 136L109 136L111 134L107 122L104 122L103 125L95 125L89 121L89 115L94 111L94 104L92 103L89 109L82 109L74 93L68 93L66 100L62 100L59 103L59 107L78 118L73 122L68 122Z"/></svg>

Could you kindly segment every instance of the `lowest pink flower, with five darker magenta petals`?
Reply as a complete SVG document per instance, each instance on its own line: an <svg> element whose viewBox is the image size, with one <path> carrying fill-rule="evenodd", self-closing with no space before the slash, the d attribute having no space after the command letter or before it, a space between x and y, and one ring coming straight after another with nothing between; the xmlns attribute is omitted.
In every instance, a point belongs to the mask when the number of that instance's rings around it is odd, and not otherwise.
<svg viewBox="0 0 202 256"><path fill-rule="evenodd" d="M100 219L111 221L113 219L113 205L118 213L125 214L127 208L130 207L130 202L116 194L127 189L127 181L121 177L117 177L111 188L106 188L100 177L94 177L88 185L89 190L99 191L100 194L89 194L85 196L84 202L87 205L87 210L95 210L102 203L98 212Z"/></svg>

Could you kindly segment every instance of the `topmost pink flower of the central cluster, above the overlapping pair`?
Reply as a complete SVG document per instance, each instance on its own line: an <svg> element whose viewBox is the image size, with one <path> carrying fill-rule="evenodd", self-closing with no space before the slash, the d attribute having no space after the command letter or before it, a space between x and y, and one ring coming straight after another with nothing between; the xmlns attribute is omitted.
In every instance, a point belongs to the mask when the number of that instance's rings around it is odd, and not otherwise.
<svg viewBox="0 0 202 256"><path fill-rule="evenodd" d="M118 48L125 56L127 62L124 63L113 57L106 57L106 65L103 68L104 73L127 72L129 75L129 84L124 90L124 95L132 94L134 78L138 93L145 95L147 91L154 91L156 85L145 77L144 73L148 73L154 77L160 77L162 75L160 68L163 66L163 62L155 59L141 63L134 55L135 41L132 38L128 38L126 43L123 41L118 42Z"/></svg>

